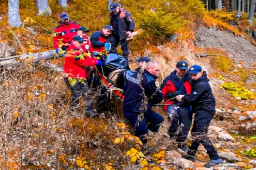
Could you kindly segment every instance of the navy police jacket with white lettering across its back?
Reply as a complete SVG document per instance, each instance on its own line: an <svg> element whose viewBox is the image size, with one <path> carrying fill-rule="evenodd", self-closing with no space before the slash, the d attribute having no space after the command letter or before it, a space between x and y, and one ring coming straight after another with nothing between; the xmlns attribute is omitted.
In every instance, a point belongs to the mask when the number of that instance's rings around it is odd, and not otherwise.
<svg viewBox="0 0 256 170"><path fill-rule="evenodd" d="M133 111L140 112L140 107L142 104L143 96L142 89L139 87L139 79L138 72L136 71L125 71L124 73L124 102L123 108L124 111ZM145 90L145 94L148 98L150 98L155 91L156 94L153 96L153 99L148 100L147 110L151 110L153 104L157 104L163 100L163 94L160 90L157 90L157 86L155 85L156 76L150 74L147 70L142 74L142 82L141 85ZM143 112L147 112L143 110Z"/></svg>

